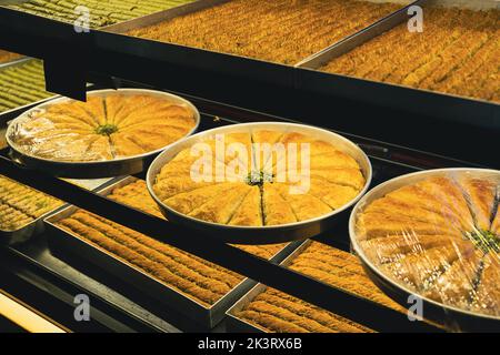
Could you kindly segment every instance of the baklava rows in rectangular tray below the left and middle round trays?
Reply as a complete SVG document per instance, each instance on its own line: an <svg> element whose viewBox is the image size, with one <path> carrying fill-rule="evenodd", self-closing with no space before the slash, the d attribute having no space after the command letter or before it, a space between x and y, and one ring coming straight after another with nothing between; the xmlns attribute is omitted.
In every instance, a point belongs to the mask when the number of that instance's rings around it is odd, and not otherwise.
<svg viewBox="0 0 500 355"><path fill-rule="evenodd" d="M161 217L142 180L116 187L108 197ZM77 210L56 224L207 307L217 303L244 278L232 271L83 210ZM284 246L274 244L238 247L269 260Z"/></svg>

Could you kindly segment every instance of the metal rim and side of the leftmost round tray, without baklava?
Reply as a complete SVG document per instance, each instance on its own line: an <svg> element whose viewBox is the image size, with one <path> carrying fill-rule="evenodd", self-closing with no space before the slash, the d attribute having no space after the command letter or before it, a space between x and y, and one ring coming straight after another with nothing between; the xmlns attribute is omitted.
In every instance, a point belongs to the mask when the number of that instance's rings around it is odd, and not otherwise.
<svg viewBox="0 0 500 355"><path fill-rule="evenodd" d="M87 94L89 97L106 97L108 93L121 93L126 95L136 95L136 94L149 94L157 95L164 99L168 99L174 103L186 105L190 108L194 115L194 126L186 134L189 136L193 134L200 124L200 113L198 109L188 100L182 99L180 97L154 90L144 90L144 89L119 89L119 90L93 90L89 91ZM7 129L6 139L7 143L10 146L10 156L11 159L20 165L24 165L30 169L37 169L44 172L48 172L54 176L60 178L71 178L71 179L101 179L101 178L113 178L120 175L132 175L138 174L151 164L152 160L164 149L174 144L169 144L159 150L148 152L141 155L132 155L121 159L108 160L108 161L97 161L97 162L60 162L57 160L38 158L36 155L30 155L23 152L22 149L19 149L14 142L10 140L11 131L24 120L29 120L30 114L37 110L42 110L51 104L61 103L66 101L70 101L68 98L58 98L54 100L46 101L19 115L17 119L12 120Z"/></svg>

